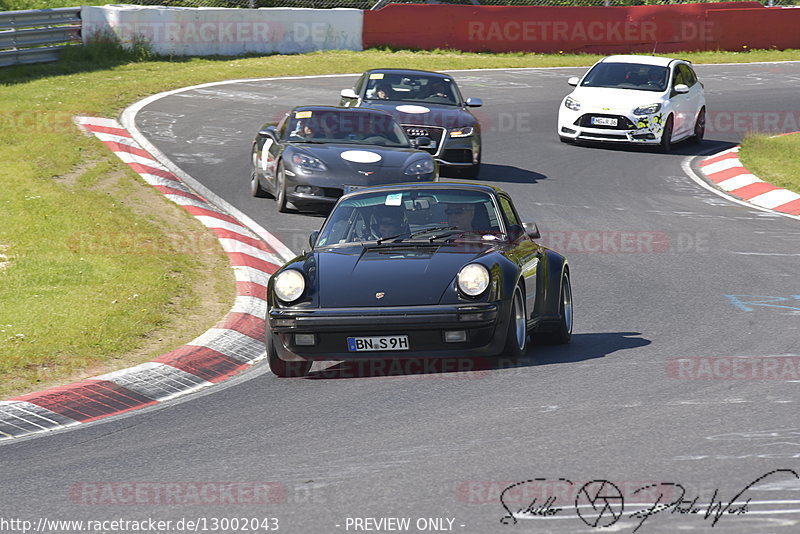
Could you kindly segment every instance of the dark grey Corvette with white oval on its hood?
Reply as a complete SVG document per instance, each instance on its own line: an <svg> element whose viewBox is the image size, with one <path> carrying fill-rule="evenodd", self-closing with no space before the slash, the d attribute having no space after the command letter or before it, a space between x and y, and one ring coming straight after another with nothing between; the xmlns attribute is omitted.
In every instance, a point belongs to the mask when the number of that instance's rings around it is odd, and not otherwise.
<svg viewBox="0 0 800 534"><path fill-rule="evenodd" d="M438 165L424 150L430 140L409 140L382 111L301 106L276 125L261 127L253 141L250 189L271 194L278 210L326 209L358 187L438 179Z"/></svg>

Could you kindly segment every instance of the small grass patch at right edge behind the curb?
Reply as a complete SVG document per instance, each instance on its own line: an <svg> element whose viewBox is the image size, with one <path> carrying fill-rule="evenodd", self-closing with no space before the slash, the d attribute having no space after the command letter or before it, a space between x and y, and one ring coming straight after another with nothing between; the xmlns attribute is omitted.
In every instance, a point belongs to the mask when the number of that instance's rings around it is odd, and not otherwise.
<svg viewBox="0 0 800 534"><path fill-rule="evenodd" d="M765 182L800 193L800 133L771 137L748 134L739 159L748 171Z"/></svg>

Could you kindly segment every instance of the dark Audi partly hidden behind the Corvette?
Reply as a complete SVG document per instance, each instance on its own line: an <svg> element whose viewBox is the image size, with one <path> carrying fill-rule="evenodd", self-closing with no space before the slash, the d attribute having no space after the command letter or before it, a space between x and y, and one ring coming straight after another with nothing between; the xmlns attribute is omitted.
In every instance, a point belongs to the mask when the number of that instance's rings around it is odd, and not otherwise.
<svg viewBox="0 0 800 534"><path fill-rule="evenodd" d="M452 76L406 69L372 69L353 89L341 92L342 106L391 113L412 139L429 137L428 152L461 176L475 178L481 166L481 125L469 108L480 98L464 98Z"/></svg>

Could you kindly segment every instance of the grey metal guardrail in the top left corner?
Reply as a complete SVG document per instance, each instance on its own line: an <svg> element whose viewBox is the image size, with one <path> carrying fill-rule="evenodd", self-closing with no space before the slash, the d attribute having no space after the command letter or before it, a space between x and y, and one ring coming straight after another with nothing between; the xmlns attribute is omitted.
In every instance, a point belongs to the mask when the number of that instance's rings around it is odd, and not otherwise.
<svg viewBox="0 0 800 534"><path fill-rule="evenodd" d="M0 12L0 67L56 61L80 42L80 7Z"/></svg>

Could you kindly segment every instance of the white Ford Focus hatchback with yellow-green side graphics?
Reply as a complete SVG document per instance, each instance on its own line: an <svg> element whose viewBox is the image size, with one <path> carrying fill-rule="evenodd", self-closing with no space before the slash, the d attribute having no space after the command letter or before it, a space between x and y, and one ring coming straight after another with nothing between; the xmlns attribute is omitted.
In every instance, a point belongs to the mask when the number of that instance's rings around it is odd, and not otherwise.
<svg viewBox="0 0 800 534"><path fill-rule="evenodd" d="M583 78L558 109L564 142L661 145L705 134L706 99L692 64L654 56L608 56Z"/></svg>

